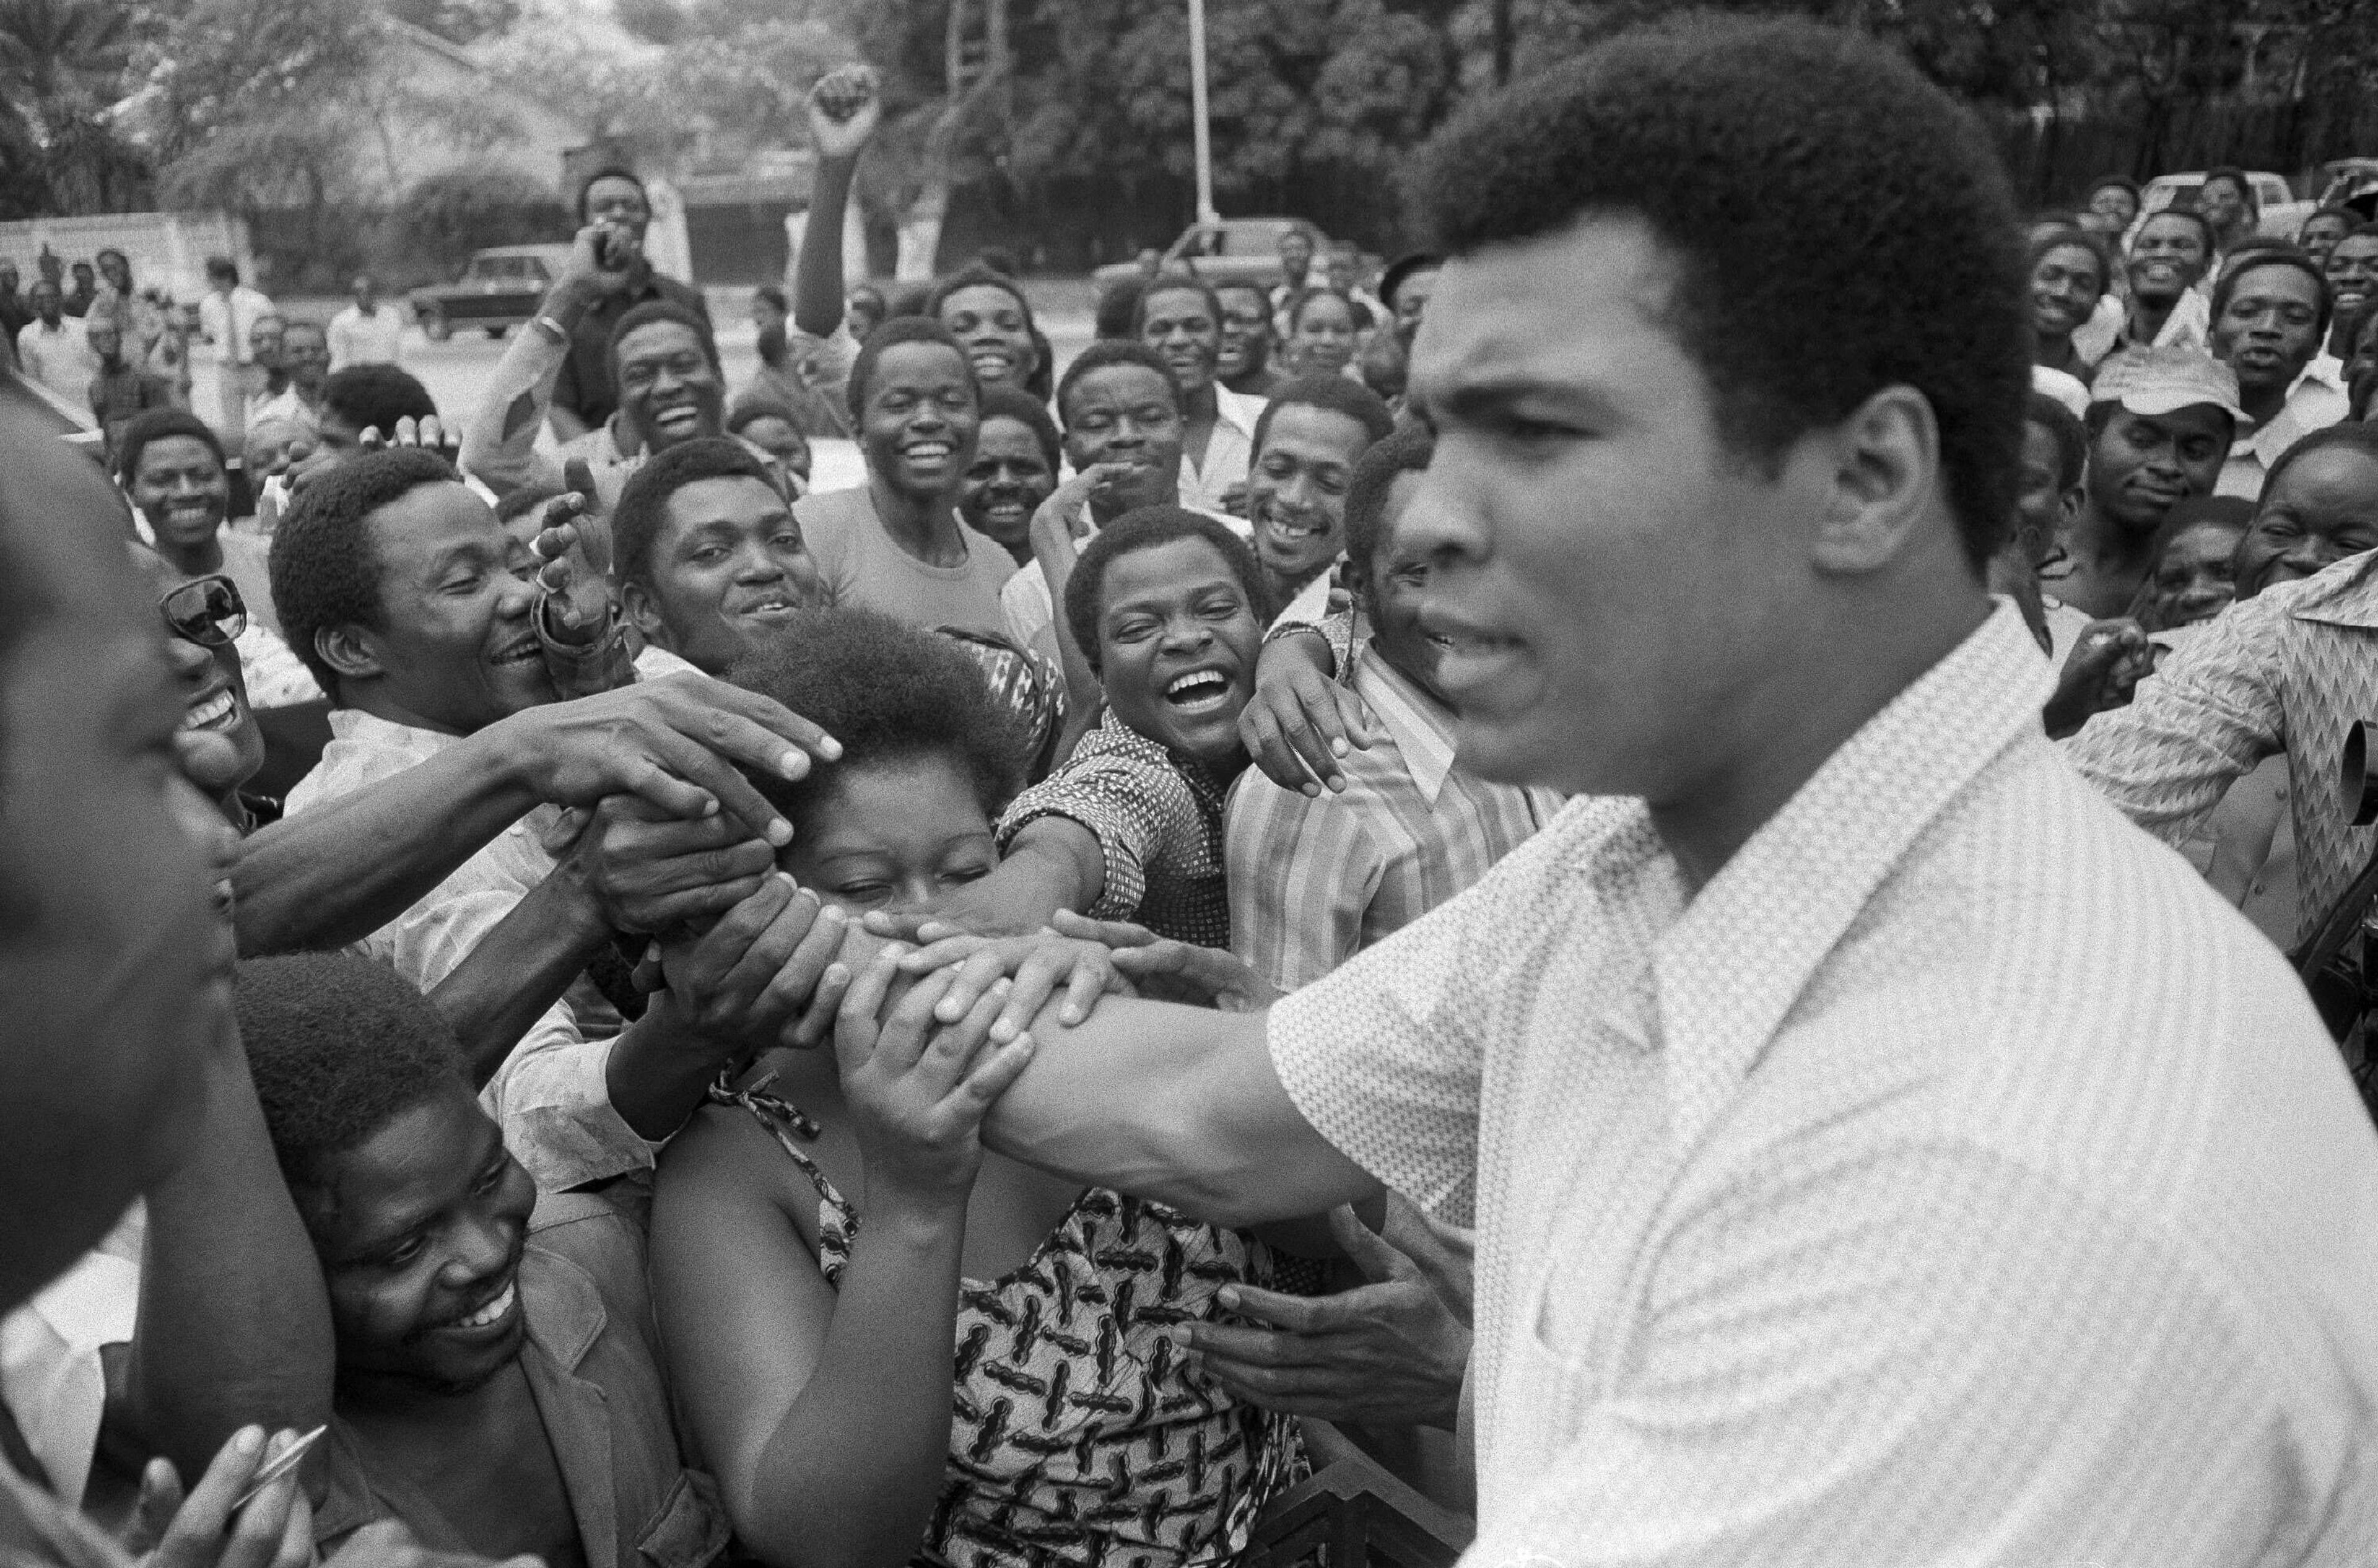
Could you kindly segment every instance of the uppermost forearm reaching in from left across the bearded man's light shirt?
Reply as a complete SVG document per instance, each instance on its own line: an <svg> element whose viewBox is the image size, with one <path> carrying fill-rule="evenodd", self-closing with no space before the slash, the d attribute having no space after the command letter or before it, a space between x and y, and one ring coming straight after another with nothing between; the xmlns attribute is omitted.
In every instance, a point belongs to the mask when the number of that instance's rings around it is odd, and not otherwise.
<svg viewBox="0 0 2378 1568"><path fill-rule="evenodd" d="M521 821L537 795L509 723L240 845L231 868L240 957L357 942Z"/></svg>

